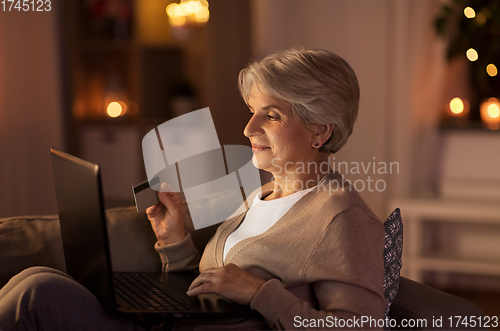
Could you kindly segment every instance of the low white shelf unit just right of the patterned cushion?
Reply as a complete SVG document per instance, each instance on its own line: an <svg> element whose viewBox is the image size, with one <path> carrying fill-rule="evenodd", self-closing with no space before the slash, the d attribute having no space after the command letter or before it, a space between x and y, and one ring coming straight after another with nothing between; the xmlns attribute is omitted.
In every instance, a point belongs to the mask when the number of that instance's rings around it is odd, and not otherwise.
<svg viewBox="0 0 500 331"><path fill-rule="evenodd" d="M418 282L424 273L500 276L500 203L498 200L405 198L402 274Z"/></svg>

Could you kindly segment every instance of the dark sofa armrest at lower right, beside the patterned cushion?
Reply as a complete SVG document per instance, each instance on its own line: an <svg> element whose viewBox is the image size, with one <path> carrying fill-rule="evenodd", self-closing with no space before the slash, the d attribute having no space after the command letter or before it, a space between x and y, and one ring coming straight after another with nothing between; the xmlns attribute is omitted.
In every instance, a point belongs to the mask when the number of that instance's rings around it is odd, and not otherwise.
<svg viewBox="0 0 500 331"><path fill-rule="evenodd" d="M456 318L453 318L453 325L450 325L449 317L454 316L484 316L484 312L470 301L457 296L434 289L427 285L414 282L408 278L401 277L399 290L394 299L389 318L394 319L397 327L393 330L435 330L435 329L474 329L470 325L456 325ZM402 327L406 321L425 320L427 325L414 325L413 327ZM439 324L433 326L433 321L442 320L442 328ZM479 326L479 325L478 325ZM476 327L476 329L481 329Z"/></svg>

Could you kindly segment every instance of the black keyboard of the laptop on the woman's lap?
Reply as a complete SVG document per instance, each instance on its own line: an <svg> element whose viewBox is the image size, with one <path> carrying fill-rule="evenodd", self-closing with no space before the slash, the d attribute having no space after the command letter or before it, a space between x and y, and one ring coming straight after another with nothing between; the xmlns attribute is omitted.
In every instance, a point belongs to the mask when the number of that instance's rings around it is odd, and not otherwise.
<svg viewBox="0 0 500 331"><path fill-rule="evenodd" d="M115 292L138 310L197 311L189 302L180 302L169 293L165 284L147 274L113 274Z"/></svg>

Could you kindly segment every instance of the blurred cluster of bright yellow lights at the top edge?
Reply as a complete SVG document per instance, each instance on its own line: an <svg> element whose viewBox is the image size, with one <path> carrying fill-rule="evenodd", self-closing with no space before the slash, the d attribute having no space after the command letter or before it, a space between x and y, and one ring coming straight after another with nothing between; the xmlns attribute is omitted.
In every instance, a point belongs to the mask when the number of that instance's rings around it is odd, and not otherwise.
<svg viewBox="0 0 500 331"><path fill-rule="evenodd" d="M203 24L210 17L206 0L181 0L179 4L169 4L166 12L172 26Z"/></svg>

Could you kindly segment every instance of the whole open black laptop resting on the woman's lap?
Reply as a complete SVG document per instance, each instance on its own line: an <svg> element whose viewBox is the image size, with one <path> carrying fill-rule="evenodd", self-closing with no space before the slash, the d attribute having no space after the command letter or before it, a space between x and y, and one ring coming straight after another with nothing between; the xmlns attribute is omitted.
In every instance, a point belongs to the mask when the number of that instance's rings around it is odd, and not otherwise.
<svg viewBox="0 0 500 331"><path fill-rule="evenodd" d="M113 272L99 166L56 148L51 158L67 273L108 313L255 316L217 295L188 296L196 274Z"/></svg>

